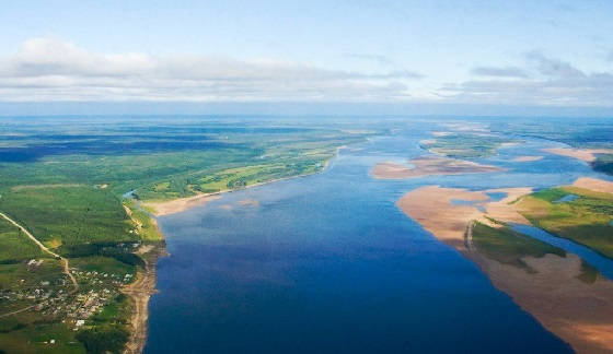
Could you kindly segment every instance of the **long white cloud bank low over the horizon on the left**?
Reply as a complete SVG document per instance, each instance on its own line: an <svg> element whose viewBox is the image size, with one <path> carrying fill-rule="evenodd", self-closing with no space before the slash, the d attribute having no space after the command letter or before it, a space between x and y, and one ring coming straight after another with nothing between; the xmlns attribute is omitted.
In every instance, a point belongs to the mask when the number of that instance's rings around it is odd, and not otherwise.
<svg viewBox="0 0 613 354"><path fill-rule="evenodd" d="M354 72L279 60L95 54L34 38L0 57L0 101L386 101L412 71Z"/></svg>

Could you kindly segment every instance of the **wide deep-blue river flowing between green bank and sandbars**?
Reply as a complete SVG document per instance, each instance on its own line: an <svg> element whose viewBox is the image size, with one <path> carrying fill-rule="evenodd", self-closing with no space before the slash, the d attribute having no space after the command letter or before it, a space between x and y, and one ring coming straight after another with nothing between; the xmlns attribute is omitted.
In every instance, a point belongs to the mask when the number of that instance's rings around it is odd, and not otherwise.
<svg viewBox="0 0 613 354"><path fill-rule="evenodd" d="M322 174L161 217L171 256L158 263L144 352L570 352L395 202L425 185L540 188L603 176L532 139L483 160L505 173L369 175L378 162L424 154L429 130L414 123L342 150ZM545 158L511 162L519 155Z"/></svg>

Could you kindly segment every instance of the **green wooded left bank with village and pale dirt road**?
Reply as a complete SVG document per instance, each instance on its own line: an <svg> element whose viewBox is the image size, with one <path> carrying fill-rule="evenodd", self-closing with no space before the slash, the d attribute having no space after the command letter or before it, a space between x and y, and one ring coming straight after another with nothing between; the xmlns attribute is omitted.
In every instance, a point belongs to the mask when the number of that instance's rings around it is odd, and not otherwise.
<svg viewBox="0 0 613 354"><path fill-rule="evenodd" d="M0 353L122 352L139 293L128 290L164 248L142 202L317 173L339 148L382 131L229 118L5 121Z"/></svg>

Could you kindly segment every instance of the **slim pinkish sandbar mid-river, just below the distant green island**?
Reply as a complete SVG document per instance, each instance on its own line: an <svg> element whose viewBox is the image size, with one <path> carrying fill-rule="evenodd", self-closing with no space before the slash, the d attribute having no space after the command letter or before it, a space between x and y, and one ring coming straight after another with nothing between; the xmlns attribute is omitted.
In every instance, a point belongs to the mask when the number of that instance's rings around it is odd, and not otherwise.
<svg viewBox="0 0 613 354"><path fill-rule="evenodd" d="M497 166L439 156L420 156L409 160L408 163L415 167L412 168L410 166L390 162L379 163L372 168L371 175L374 178L381 179L402 179L432 175L479 174L506 170Z"/></svg>

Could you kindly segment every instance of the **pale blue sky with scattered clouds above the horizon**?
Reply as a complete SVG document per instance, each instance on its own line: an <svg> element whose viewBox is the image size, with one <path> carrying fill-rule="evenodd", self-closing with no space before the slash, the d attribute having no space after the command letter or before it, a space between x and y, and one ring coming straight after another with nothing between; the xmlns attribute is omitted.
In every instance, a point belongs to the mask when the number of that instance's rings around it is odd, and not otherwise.
<svg viewBox="0 0 613 354"><path fill-rule="evenodd" d="M3 0L0 30L0 113L27 103L613 113L613 1Z"/></svg>

